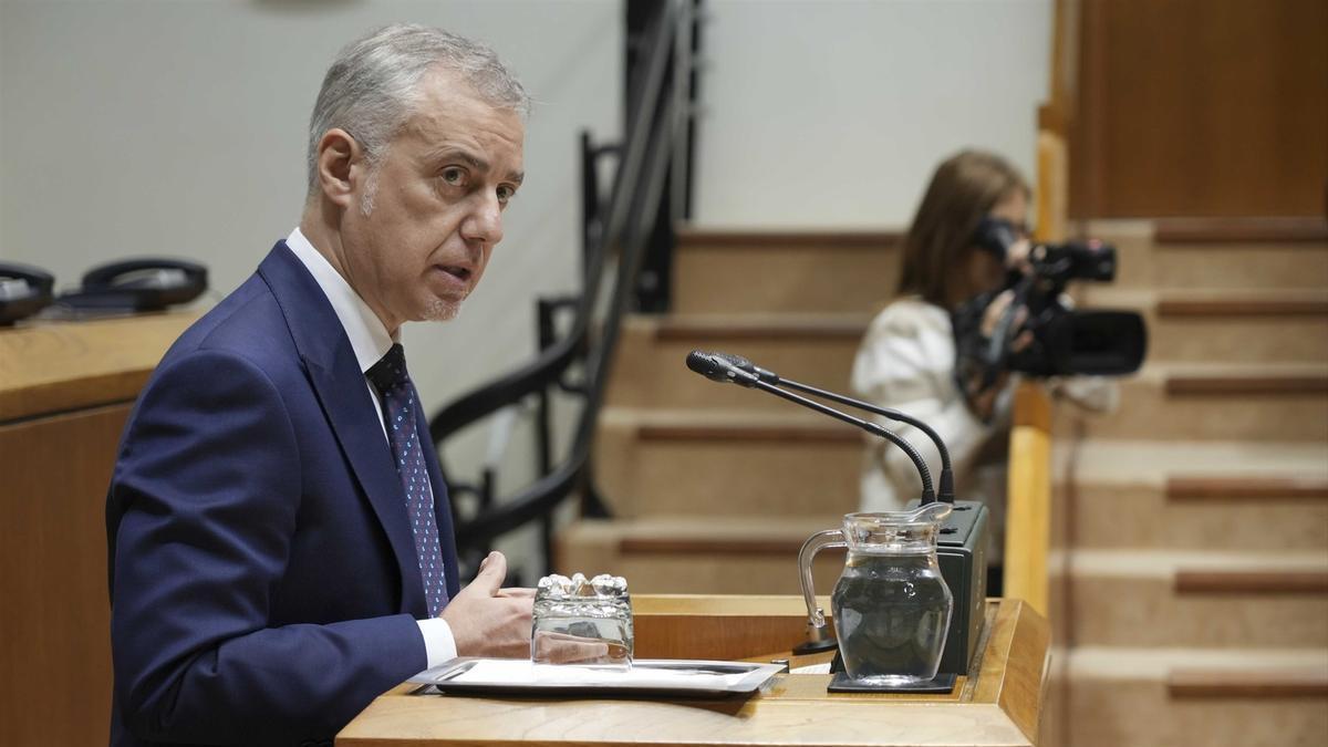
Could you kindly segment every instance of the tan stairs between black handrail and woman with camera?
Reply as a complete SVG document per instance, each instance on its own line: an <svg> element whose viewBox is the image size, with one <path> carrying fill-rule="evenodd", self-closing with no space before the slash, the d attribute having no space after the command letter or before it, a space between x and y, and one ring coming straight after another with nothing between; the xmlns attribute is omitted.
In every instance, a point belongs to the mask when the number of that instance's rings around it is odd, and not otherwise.
<svg viewBox="0 0 1328 747"><path fill-rule="evenodd" d="M596 436L612 521L559 538L559 568L611 569L640 593L795 594L798 546L857 508L859 433L687 370L740 352L843 389L871 310L894 286L898 237L684 230L673 312L624 323ZM817 557L829 593L843 565Z"/></svg>

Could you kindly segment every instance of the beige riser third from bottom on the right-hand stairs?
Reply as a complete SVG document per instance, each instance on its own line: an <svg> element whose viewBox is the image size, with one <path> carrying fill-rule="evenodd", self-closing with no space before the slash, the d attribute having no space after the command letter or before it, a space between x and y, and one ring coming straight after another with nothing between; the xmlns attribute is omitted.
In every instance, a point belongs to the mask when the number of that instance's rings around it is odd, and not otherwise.
<svg viewBox="0 0 1328 747"><path fill-rule="evenodd" d="M1181 465L1178 465L1181 467ZM1328 500L1167 498L1162 485L1057 489L1073 498L1070 542L1085 549L1328 550Z"/></svg>

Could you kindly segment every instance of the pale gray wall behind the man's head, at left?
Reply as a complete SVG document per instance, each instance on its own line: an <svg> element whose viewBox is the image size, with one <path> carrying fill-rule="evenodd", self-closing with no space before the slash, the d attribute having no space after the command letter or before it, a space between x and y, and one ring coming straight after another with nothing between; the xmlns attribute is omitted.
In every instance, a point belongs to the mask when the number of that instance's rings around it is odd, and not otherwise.
<svg viewBox="0 0 1328 747"><path fill-rule="evenodd" d="M0 258L76 283L130 254L239 284L296 225L328 62L392 21L491 44L534 96L527 179L483 283L450 324L406 327L441 404L533 355L533 299L576 287L578 133L620 129L618 0L0 0Z"/></svg>

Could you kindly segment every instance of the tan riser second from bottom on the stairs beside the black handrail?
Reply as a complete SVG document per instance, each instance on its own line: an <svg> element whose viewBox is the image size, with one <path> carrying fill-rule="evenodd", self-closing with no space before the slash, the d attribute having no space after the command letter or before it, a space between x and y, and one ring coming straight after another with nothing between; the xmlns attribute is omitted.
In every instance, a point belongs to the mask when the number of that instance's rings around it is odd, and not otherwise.
<svg viewBox="0 0 1328 747"><path fill-rule="evenodd" d="M596 480L615 516L822 516L858 505L861 441L640 437L602 424Z"/></svg>

